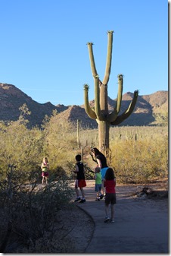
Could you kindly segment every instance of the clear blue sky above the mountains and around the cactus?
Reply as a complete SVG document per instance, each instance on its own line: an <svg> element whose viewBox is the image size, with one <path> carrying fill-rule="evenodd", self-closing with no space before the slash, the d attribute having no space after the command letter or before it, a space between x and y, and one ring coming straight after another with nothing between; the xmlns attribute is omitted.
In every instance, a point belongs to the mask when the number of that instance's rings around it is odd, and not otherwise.
<svg viewBox="0 0 171 256"><path fill-rule="evenodd" d="M94 99L87 43L103 80L107 31L113 30L108 96L168 90L168 1L0 0L0 83L14 84L38 103L82 105L83 84Z"/></svg>

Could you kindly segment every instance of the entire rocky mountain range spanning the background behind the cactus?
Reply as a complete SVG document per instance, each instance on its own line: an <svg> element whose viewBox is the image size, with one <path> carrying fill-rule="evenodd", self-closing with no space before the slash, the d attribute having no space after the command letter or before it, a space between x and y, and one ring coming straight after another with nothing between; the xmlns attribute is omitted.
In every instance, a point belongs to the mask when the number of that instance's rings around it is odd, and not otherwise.
<svg viewBox="0 0 171 256"><path fill-rule="evenodd" d="M124 112L130 101L132 100L133 93L123 94L122 105L120 114ZM0 83L0 120L2 121L15 121L20 116L20 106L26 103L26 106L31 112L31 115L27 116L30 121L30 127L35 125L41 125L45 115L50 116L53 110L57 110L57 122L65 120L66 122L72 122L76 124L79 120L80 124L84 128L97 128L97 122L90 119L86 114L84 105L82 106L54 106L50 102L37 103L32 100L30 96L23 93L17 87L12 84ZM94 106L94 100L90 101L90 105ZM112 100L108 97L108 109L111 112L113 106L115 106L116 99ZM120 125L162 125L165 122L167 124L168 115L168 91L157 91L150 95L138 96L138 100L132 112L123 123ZM164 120L163 120L164 119Z"/></svg>

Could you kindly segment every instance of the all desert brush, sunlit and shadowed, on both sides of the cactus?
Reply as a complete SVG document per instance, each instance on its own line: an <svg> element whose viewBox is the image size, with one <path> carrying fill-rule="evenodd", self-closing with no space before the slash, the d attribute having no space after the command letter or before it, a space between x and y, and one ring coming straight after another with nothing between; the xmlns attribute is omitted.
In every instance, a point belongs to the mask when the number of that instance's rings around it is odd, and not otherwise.
<svg viewBox="0 0 171 256"><path fill-rule="evenodd" d="M64 228L58 220L62 209L74 207L70 203L74 196L70 170L77 153L82 154L86 179L92 177L95 162L89 152L98 147L98 130L56 122L55 111L45 117L42 128L29 129L26 113L21 112L16 122L0 123L1 252L72 252L60 242L65 235L60 236ZM41 185L44 156L50 163L46 187ZM107 161L115 168L119 183L167 178L168 127L110 128ZM44 248L45 241L56 239L54 234L58 242Z"/></svg>

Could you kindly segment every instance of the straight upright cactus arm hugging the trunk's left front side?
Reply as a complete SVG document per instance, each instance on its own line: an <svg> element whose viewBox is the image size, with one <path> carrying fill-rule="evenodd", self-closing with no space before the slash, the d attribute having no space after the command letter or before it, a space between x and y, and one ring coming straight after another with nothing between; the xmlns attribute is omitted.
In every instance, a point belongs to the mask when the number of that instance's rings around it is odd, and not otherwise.
<svg viewBox="0 0 171 256"><path fill-rule="evenodd" d="M102 120L101 106L100 106L100 88L99 88L99 77L95 76L95 113L98 120Z"/></svg>

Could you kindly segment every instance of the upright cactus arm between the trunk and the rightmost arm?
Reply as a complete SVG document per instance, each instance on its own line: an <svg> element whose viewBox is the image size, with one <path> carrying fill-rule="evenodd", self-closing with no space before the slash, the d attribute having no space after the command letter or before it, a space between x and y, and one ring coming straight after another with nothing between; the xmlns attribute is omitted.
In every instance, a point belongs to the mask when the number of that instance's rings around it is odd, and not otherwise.
<svg viewBox="0 0 171 256"><path fill-rule="evenodd" d="M123 74L118 74L118 93L117 93L117 102L113 109L113 112L107 115L108 122L114 122L117 119L117 115L120 112L120 106L123 97Z"/></svg>

